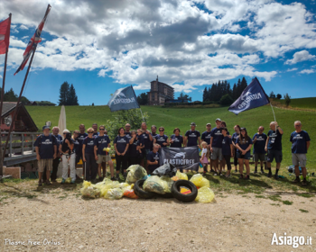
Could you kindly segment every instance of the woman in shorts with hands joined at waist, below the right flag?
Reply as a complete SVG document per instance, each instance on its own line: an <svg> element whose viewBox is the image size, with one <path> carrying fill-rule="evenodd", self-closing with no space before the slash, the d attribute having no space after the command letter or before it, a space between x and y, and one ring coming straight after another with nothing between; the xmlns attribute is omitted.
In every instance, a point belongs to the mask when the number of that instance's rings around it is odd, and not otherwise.
<svg viewBox="0 0 316 252"><path fill-rule="evenodd" d="M245 179L249 179L250 167L249 167L249 159L250 159L250 149L253 146L253 141L248 137L246 132L246 128L240 129L240 135L237 139L236 147L237 147L237 157L239 162L239 172L240 179L244 177L243 175L243 163L245 161L246 166L246 177Z"/></svg>

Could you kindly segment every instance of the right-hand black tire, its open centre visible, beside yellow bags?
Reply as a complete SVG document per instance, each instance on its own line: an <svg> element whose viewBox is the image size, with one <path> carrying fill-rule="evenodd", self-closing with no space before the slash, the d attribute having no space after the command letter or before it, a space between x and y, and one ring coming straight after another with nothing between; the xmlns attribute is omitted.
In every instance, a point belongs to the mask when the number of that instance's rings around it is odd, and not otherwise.
<svg viewBox="0 0 316 252"><path fill-rule="evenodd" d="M191 193L180 193L181 186L189 188L191 190ZM172 184L172 195L178 201L193 202L198 195L198 188L191 181L180 179Z"/></svg>

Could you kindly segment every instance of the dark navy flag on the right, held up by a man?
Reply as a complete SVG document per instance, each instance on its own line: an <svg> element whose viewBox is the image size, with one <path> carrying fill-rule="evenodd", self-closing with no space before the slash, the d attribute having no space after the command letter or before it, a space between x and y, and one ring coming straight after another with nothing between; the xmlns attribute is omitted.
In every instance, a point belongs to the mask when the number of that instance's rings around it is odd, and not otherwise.
<svg viewBox="0 0 316 252"><path fill-rule="evenodd" d="M258 79L255 77L252 82L245 88L239 98L232 103L228 111L238 114L246 110L251 110L270 103L268 95L265 94Z"/></svg>

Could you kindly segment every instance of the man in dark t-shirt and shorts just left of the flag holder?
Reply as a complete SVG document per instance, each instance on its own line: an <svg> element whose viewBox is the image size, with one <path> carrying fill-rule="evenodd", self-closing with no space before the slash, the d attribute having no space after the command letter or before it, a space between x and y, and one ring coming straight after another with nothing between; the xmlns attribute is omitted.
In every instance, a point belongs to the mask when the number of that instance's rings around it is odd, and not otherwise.
<svg viewBox="0 0 316 252"><path fill-rule="evenodd" d="M265 128L260 126L258 132L253 137L254 156L255 156L255 173L257 173L258 161L260 159L261 173L264 174L264 161L265 161L265 142L267 136L264 133Z"/></svg>

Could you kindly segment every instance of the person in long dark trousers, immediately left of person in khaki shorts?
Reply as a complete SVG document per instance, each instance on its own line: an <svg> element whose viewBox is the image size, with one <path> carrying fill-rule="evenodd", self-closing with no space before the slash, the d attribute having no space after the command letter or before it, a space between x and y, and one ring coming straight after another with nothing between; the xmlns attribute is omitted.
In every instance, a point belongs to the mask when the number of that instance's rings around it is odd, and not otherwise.
<svg viewBox="0 0 316 252"><path fill-rule="evenodd" d="M82 142L82 158L86 165L85 178L88 181L96 180L97 177L97 162L94 155L94 143L95 138L93 137L93 128L88 128L88 137Z"/></svg>

